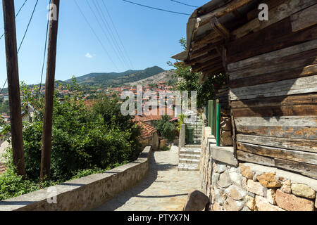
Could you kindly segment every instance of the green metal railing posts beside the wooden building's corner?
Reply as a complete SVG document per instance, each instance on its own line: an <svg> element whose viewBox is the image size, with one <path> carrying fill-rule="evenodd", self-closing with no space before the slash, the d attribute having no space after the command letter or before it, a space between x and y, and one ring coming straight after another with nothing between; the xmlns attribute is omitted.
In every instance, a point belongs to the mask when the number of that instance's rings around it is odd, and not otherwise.
<svg viewBox="0 0 317 225"><path fill-rule="evenodd" d="M221 105L219 100L210 100L206 108L206 117L208 122L208 127L211 127L211 134L216 137L217 146L220 146L220 111Z"/></svg>

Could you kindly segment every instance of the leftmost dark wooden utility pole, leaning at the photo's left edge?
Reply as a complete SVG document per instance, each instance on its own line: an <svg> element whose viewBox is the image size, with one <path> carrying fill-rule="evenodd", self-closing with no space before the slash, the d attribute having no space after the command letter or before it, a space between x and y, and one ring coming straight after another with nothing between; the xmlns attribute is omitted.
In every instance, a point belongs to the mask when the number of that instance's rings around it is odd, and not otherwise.
<svg viewBox="0 0 317 225"><path fill-rule="evenodd" d="M4 33L6 39L6 71L8 76L8 97L11 117L11 141L13 149L13 164L17 169L17 173L25 178L14 1L2 0L2 6L4 8Z"/></svg>

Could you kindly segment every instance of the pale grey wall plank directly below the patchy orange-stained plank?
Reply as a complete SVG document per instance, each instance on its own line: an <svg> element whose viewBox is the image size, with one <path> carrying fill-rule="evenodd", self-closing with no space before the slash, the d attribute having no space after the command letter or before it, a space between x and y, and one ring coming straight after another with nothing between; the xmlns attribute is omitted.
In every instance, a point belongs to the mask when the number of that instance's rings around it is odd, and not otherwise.
<svg viewBox="0 0 317 225"><path fill-rule="evenodd" d="M286 139L272 136L255 136L238 134L237 141L253 143L261 146L271 146L277 148L287 148L299 151L317 153L317 140L309 139Z"/></svg>

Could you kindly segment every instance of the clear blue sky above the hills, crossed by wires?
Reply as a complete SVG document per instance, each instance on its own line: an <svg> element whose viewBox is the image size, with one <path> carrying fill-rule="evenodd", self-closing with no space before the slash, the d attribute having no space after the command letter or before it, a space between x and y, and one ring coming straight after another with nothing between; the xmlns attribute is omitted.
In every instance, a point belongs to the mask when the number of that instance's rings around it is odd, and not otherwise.
<svg viewBox="0 0 317 225"><path fill-rule="evenodd" d="M25 0L15 0L15 12L23 4ZM142 6L129 4L122 0L76 0L82 8L89 23L101 40L106 51L94 36L94 33L87 25L85 18L80 14L74 0L61 0L60 23L58 27L58 45L56 59L56 79L66 80L75 75L76 77L85 75L90 72L123 72L125 70L134 69L142 70L154 65L158 65L163 69L170 69L166 64L168 60L172 60L170 56L182 51L182 47L178 43L181 37L186 36L186 23L189 15L179 15L156 11ZM87 1L94 10L92 13ZM123 63L122 54L116 54L113 49L111 36L106 38L101 30L103 19L99 16L98 11L94 8L94 2L99 1L106 20L111 26L111 20L106 14L106 9L101 1L104 1L108 11L116 25L116 30L120 35L120 39L128 52L132 66L128 58ZM156 8L164 8L169 11L178 11L181 13L191 14L194 8L175 3L170 0L131 0L138 4L153 6ZM202 6L209 0L179 0L185 4L194 6ZM28 20L35 6L36 0L28 0L16 19L17 41L18 45L23 37ZM44 42L46 34L46 9L49 0L39 0L34 18L25 37L25 41L18 55L20 81L27 84L39 84L42 71L42 60L44 56ZM4 32L2 3L0 10L0 32ZM97 4L96 4L97 6ZM99 19L99 23L95 18ZM111 27L112 28L112 27ZM113 35L116 35L113 30ZM0 36L1 36L0 34ZM108 34L108 33L107 33ZM111 35L111 34L108 34ZM120 46L120 40L116 39ZM124 51L123 48L120 48ZM120 60L121 58L121 60ZM0 86L2 87L6 80L6 57L4 38L0 40ZM45 80L45 72L43 82Z"/></svg>

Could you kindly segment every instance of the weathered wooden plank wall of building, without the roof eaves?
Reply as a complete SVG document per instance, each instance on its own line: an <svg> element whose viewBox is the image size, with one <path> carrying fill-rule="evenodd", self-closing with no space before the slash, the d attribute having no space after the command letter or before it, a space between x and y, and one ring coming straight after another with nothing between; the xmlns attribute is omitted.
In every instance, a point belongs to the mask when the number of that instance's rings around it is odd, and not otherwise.
<svg viewBox="0 0 317 225"><path fill-rule="evenodd" d="M317 0L277 2L226 45L237 158L317 179Z"/></svg>

